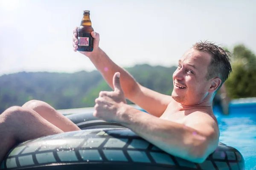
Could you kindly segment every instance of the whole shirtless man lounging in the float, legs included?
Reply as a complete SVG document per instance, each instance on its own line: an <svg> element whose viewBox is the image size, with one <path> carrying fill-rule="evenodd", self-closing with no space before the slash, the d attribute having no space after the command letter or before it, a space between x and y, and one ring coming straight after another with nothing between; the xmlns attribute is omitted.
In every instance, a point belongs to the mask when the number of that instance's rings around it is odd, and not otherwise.
<svg viewBox="0 0 256 170"><path fill-rule="evenodd" d="M77 27L73 31L77 51ZM172 96L141 86L99 48L94 37L93 52L86 55L113 88L100 92L94 116L117 122L174 156L203 162L218 146L218 123L212 99L231 72L228 53L212 43L196 43L179 60L173 74ZM106 69L107 68L107 69ZM125 98L148 113L126 104ZM42 101L11 107L0 115L0 160L16 143L67 131L79 130L70 120Z"/></svg>

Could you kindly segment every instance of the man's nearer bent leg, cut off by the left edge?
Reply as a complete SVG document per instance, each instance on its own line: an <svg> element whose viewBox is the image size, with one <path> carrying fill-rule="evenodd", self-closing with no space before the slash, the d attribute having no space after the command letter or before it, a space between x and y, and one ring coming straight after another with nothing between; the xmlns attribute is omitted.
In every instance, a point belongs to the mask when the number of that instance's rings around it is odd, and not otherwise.
<svg viewBox="0 0 256 170"><path fill-rule="evenodd" d="M10 107L0 115L0 162L15 144L58 133L63 131L34 110Z"/></svg>

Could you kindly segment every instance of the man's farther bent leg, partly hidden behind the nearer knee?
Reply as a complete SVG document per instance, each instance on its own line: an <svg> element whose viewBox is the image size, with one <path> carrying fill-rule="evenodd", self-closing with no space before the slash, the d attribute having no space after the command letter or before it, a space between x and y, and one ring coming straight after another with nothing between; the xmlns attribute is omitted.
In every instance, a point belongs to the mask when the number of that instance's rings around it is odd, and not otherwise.
<svg viewBox="0 0 256 170"><path fill-rule="evenodd" d="M38 112L43 118L49 121L51 124L55 125L64 132L81 130L76 124L70 121L67 117L57 112L53 107L44 101L32 100L23 104L24 108L33 109Z"/></svg>

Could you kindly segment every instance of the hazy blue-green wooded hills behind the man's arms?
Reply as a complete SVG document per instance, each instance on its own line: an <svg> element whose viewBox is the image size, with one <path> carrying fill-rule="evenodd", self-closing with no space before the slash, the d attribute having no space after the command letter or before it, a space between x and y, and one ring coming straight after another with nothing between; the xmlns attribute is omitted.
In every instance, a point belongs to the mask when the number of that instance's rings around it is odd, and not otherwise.
<svg viewBox="0 0 256 170"><path fill-rule="evenodd" d="M136 65L127 70L143 86L171 94L176 67ZM100 91L111 91L98 71L68 73L19 72L0 77L0 114L36 99L56 109L93 107ZM131 104L128 101L128 104Z"/></svg>

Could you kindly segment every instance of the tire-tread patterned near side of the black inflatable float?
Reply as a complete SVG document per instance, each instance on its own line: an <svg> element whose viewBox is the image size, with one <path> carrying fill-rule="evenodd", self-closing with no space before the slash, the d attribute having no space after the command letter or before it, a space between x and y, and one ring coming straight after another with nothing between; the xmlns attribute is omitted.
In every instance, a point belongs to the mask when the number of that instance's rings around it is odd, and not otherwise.
<svg viewBox="0 0 256 170"><path fill-rule="evenodd" d="M163 152L131 130L109 128L61 133L23 142L9 151L0 169L78 163L84 167L90 163L149 164L175 170L243 170L244 167L239 151L221 143L206 161L196 164Z"/></svg>

